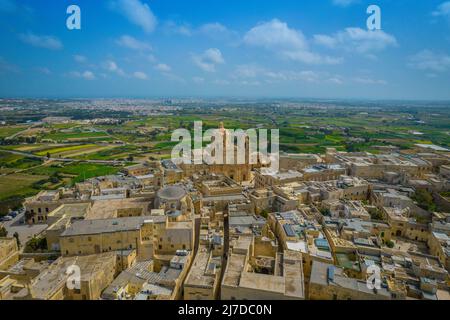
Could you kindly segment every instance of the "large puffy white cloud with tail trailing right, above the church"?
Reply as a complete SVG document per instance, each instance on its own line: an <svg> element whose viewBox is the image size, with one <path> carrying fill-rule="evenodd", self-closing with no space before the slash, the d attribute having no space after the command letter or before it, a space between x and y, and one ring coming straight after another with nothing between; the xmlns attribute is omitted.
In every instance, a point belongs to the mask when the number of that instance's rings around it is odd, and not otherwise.
<svg viewBox="0 0 450 320"><path fill-rule="evenodd" d="M244 43L262 47L279 54L283 58L307 64L338 64L341 59L325 57L313 53L308 41L300 30L289 28L278 19L258 24L244 36Z"/></svg>

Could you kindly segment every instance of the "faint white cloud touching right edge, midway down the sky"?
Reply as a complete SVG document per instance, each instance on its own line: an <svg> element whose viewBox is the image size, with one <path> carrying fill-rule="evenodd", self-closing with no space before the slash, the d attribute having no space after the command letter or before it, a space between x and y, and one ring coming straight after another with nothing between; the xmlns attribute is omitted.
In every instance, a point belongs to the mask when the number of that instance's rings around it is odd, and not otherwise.
<svg viewBox="0 0 450 320"><path fill-rule="evenodd" d="M450 56L423 50L410 57L408 65L418 70L442 73L450 70Z"/></svg>

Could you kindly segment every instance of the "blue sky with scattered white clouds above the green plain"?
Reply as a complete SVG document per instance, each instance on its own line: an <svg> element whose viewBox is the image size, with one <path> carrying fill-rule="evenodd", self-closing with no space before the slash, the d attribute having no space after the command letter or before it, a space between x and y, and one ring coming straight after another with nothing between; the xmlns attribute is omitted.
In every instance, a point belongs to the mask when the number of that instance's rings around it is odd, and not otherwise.
<svg viewBox="0 0 450 320"><path fill-rule="evenodd" d="M450 99L442 0L0 0L0 37L0 97Z"/></svg>

